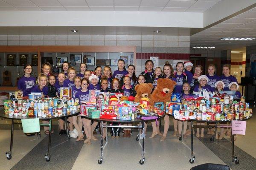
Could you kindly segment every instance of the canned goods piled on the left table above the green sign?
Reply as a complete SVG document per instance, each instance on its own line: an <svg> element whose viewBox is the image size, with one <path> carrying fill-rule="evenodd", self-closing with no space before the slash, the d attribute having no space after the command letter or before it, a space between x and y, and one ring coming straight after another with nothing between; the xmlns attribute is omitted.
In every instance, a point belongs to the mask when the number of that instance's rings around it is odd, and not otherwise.
<svg viewBox="0 0 256 170"><path fill-rule="evenodd" d="M52 117L69 115L79 110L78 99L46 98L36 100L5 100L4 112L9 116Z"/></svg>

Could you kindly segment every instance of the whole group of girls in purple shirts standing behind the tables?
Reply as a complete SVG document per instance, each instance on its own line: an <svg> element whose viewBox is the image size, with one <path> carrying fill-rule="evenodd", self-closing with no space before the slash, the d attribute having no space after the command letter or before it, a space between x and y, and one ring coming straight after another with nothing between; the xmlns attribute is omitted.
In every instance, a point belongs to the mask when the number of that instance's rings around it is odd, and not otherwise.
<svg viewBox="0 0 256 170"><path fill-rule="evenodd" d="M24 75L18 82L18 90L23 91L23 96L28 96L30 92L43 92L43 96L59 97L61 87L72 87L73 98L79 98L81 104L82 101L89 100L89 90L100 90L102 92L123 93L125 96L135 96L136 91L134 91L134 87L137 84L152 83L155 88L157 86L157 79L160 78L174 80L177 83L174 92L183 95L192 95L193 91L198 92L201 89L206 89L211 92L226 89L237 91L239 87L236 77L230 75L229 65L223 66L223 75L221 77L215 75L215 65L209 65L208 75L206 76L202 75L203 68L201 65L195 66L194 74L191 73L192 67L193 65L191 62L186 62L185 64L183 62L178 62L176 65L176 72L174 72L172 65L169 64L169 62L166 62L163 66L163 71L160 67L153 70L154 63L149 59L145 62L145 71L136 77L134 65L129 65L128 70L126 70L125 61L122 59L118 60L118 70L114 71L113 74L109 66L105 66L103 69L101 66L96 66L94 71L89 71L84 63L81 63L80 65L80 73L76 74L76 69L70 67L68 62L64 62L62 65L63 72L55 77L51 72L51 65L46 62L42 66L42 73L38 75L37 80L35 77L30 76L32 73L32 66L25 65L23 68ZM236 95L239 98L239 93ZM156 127L155 123L152 123L153 132L150 138L159 134L162 136L160 141L166 139L170 124L169 116L165 116L164 120L163 134L160 133L159 127ZM91 140L97 140L97 138L93 136L93 131L96 128L97 122L91 123L90 120L82 119L80 116L72 116L68 121L70 122L70 136L74 134L73 125L79 133L76 141L84 140L84 136L81 132L83 126L86 134L84 143L91 144ZM173 123L175 130L173 135L177 136L177 134L181 134L182 122L173 119ZM186 125L184 127L186 128ZM65 134L64 121L62 119L59 120L59 128L59 134ZM49 127L44 127L44 130L46 134L49 134ZM186 129L184 130L184 134L186 135L188 135L189 132L189 129L187 131ZM130 135L131 129L128 129L123 136L130 137ZM198 129L196 136L203 137L204 129L201 129L201 135ZM221 137L223 137L223 135L220 135L219 138L221 139Z"/></svg>

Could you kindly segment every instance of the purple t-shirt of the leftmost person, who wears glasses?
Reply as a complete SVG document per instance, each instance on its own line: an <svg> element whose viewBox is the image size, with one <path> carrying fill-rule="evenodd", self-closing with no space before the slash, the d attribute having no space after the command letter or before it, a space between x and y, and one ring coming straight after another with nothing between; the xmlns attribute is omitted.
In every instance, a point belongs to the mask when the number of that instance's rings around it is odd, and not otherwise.
<svg viewBox="0 0 256 170"><path fill-rule="evenodd" d="M30 89L35 85L35 77L21 77L17 83L18 90L23 91L23 96L29 96Z"/></svg>

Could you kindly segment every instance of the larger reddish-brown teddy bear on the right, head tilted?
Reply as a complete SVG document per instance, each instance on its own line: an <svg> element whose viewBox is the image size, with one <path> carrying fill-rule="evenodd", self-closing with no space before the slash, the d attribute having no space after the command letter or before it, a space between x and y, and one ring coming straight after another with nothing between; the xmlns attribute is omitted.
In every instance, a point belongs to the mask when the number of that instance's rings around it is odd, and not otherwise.
<svg viewBox="0 0 256 170"><path fill-rule="evenodd" d="M152 93L152 99L154 102L170 102L171 94L176 82L165 78L157 80L157 87Z"/></svg>

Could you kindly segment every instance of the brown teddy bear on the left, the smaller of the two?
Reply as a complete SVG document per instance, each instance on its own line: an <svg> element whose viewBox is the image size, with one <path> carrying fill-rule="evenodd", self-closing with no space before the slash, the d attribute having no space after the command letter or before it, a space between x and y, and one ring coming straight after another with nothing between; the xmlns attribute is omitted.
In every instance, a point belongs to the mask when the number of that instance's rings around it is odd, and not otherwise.
<svg viewBox="0 0 256 170"><path fill-rule="evenodd" d="M149 105L153 106L154 101L151 99L151 91L152 91L153 85L151 83L141 83L139 85L135 86L136 96L134 99L134 102L140 102L140 99L143 97L147 97L149 99Z"/></svg>

